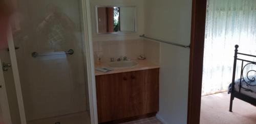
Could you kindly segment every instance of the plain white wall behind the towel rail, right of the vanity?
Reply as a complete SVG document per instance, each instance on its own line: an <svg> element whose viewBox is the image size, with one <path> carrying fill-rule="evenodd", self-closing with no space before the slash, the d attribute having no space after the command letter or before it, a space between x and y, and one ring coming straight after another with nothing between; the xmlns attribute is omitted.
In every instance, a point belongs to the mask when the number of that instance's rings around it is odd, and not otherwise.
<svg viewBox="0 0 256 124"><path fill-rule="evenodd" d="M145 1L145 35L190 43L191 0ZM160 111L165 123L187 120L189 49L160 44Z"/></svg>

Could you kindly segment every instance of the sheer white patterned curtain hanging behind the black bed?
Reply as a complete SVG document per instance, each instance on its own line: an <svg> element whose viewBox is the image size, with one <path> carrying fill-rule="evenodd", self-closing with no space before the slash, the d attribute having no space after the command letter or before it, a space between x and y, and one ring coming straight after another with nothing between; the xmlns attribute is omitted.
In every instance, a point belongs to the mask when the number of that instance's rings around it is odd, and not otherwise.
<svg viewBox="0 0 256 124"><path fill-rule="evenodd" d="M240 46L241 53L256 55L256 0L207 2L202 95L227 90L234 45ZM237 70L240 68L238 64Z"/></svg>

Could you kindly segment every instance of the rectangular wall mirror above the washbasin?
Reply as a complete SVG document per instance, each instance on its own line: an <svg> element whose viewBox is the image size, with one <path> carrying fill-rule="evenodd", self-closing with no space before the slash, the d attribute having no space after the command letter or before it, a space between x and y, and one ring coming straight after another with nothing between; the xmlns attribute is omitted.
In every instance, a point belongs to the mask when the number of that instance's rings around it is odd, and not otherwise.
<svg viewBox="0 0 256 124"><path fill-rule="evenodd" d="M97 34L136 33L136 7L96 6Z"/></svg>

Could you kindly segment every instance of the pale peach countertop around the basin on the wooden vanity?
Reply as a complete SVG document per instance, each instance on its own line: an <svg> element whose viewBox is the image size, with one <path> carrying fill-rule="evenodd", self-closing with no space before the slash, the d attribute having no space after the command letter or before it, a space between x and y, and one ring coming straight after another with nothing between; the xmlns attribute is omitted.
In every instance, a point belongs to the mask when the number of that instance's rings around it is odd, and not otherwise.
<svg viewBox="0 0 256 124"><path fill-rule="evenodd" d="M108 74L112 74L112 73L121 73L121 72L160 68L159 65L148 62L147 60L133 60L133 61L137 62L138 64L133 67L113 68L114 70L111 70L108 72L101 72L101 71L95 70L95 76L108 75ZM100 64L95 64L95 68L97 68L97 67L110 67L110 66L108 66L108 63L100 63Z"/></svg>

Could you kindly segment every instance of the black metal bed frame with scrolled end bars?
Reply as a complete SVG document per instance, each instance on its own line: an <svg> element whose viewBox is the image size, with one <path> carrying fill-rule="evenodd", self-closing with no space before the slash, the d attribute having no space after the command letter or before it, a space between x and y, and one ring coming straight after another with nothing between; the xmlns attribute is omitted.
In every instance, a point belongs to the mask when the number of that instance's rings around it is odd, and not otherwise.
<svg viewBox="0 0 256 124"><path fill-rule="evenodd" d="M230 95L230 105L229 105L229 111L230 112L232 112L232 105L233 105L234 97L239 98L242 101L245 101L249 104L252 104L252 105L256 106L256 98L253 98L253 97L250 97L248 95L245 95L245 94L241 93L241 89L245 89L241 85L242 79L244 80L244 75L243 75L244 68L247 65L250 65L250 64L256 65L256 62L245 60L245 59L240 59L240 58L238 58L238 55L250 56L250 57L255 57L255 58L256 58L256 56L238 53L239 45L235 45L234 47L236 47L236 49L234 50L234 65L233 65L233 75L232 75L231 95ZM239 91L236 91L236 90L234 90L234 85L235 85L234 81L235 81L235 78L236 78L236 68L237 68L237 61L238 60L242 61L242 66L241 66ZM248 62L248 63L244 65L244 62ZM249 79L249 77L248 77L249 72L252 72L252 71L256 72L256 70L249 70L247 72L247 75L246 75L246 78L249 81L255 81L255 78ZM246 82L245 80L244 80L244 82L249 86L255 86L255 85L251 85L250 83Z"/></svg>

